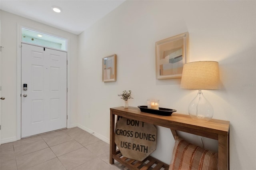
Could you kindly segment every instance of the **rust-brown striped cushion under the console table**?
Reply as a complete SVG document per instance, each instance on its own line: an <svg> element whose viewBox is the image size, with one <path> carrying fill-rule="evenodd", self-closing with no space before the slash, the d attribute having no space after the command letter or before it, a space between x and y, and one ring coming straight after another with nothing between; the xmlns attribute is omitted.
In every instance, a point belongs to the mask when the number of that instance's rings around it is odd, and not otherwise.
<svg viewBox="0 0 256 170"><path fill-rule="evenodd" d="M218 170L218 153L205 150L175 136L169 170Z"/></svg>

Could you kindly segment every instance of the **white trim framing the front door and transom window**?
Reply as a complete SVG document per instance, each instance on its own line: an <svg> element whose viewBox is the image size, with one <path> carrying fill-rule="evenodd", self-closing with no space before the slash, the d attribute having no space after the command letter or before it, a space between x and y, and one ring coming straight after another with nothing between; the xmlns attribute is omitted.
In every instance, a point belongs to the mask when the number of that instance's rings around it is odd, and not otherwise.
<svg viewBox="0 0 256 170"><path fill-rule="evenodd" d="M70 128L70 38L66 38L63 36L56 35L52 32L47 32L45 30L40 30L38 28L32 28L30 26L25 26L22 24L17 23L17 63L16 63L16 71L17 71L17 85L16 85L16 107L17 107L17 135L16 135L16 140L20 140L21 138L21 43L22 43L22 27L29 28L31 30L37 30L39 32L44 32L53 36L58 36L61 38L67 39L67 60L68 60L68 65L67 65L67 128ZM37 45L38 46L38 45Z"/></svg>

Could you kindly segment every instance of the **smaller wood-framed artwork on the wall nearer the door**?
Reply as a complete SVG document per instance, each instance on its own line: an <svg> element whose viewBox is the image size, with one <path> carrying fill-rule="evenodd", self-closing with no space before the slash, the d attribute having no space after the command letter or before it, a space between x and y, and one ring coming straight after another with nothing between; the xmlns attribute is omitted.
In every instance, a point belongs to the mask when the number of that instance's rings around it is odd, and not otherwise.
<svg viewBox="0 0 256 170"><path fill-rule="evenodd" d="M103 58L102 81L116 81L116 54Z"/></svg>

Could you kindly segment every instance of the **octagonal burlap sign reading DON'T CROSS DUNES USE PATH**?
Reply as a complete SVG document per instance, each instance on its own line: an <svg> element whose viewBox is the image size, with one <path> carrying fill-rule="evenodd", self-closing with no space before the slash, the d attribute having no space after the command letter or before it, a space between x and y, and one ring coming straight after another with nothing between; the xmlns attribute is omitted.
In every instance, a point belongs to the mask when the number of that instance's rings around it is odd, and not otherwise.
<svg viewBox="0 0 256 170"><path fill-rule="evenodd" d="M115 143L124 157L142 161L156 150L156 127L122 117L116 123Z"/></svg>

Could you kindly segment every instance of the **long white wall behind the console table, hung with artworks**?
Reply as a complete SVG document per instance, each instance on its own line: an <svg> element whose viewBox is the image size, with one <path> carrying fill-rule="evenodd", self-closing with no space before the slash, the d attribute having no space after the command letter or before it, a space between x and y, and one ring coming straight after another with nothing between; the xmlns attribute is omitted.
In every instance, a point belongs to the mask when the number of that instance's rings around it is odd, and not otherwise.
<svg viewBox="0 0 256 170"><path fill-rule="evenodd" d="M214 119L230 121L230 169L256 169L256 1L126 1L79 35L78 125L109 139L110 107L132 90L130 106L160 99L188 114L196 90L180 79L157 80L155 42L189 32L190 61L218 61L221 90L204 90ZM117 54L117 81L102 82L102 58ZM184 134L200 144L200 137ZM190 138L192 137L192 138ZM204 139L216 150L215 140ZM174 139L158 127L153 156L170 163Z"/></svg>

